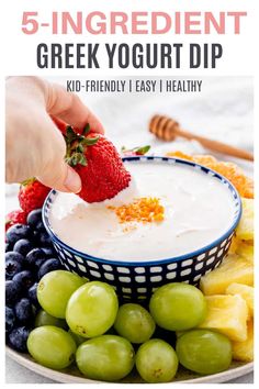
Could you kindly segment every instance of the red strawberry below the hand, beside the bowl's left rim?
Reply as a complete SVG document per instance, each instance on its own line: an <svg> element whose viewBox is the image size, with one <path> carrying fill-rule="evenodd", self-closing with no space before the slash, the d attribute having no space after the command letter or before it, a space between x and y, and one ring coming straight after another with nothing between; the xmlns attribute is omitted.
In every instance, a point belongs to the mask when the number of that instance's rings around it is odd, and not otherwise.
<svg viewBox="0 0 259 389"><path fill-rule="evenodd" d="M37 208L42 208L49 191L50 188L45 187L36 178L23 181L18 194L22 210L29 213Z"/></svg>

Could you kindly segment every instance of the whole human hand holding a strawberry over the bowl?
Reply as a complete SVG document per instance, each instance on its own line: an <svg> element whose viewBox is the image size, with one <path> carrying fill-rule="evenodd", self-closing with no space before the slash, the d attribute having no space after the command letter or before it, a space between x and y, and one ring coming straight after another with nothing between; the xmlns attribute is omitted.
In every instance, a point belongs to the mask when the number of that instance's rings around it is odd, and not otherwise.
<svg viewBox="0 0 259 389"><path fill-rule="evenodd" d="M79 192L79 175L65 160L66 144L49 115L103 133L102 124L77 95L37 77L10 77L5 93L7 182L36 177L47 187Z"/></svg>

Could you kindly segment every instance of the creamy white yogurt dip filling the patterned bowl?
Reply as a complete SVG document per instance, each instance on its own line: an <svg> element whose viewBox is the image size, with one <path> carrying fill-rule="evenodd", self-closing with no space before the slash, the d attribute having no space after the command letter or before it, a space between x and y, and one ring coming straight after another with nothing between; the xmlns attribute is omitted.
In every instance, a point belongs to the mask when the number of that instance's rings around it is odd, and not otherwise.
<svg viewBox="0 0 259 389"><path fill-rule="evenodd" d="M94 257L114 260L165 259L196 251L232 225L234 203L227 187L199 169L165 163L125 163L133 182L114 199L88 204L58 193L49 215L57 236ZM125 231L109 205L156 197L165 207L159 223L135 223Z"/></svg>

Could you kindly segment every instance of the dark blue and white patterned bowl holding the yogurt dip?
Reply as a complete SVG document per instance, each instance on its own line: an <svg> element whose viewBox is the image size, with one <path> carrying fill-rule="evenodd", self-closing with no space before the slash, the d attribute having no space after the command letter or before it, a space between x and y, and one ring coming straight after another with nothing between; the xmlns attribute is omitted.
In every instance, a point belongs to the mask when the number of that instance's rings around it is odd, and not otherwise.
<svg viewBox="0 0 259 389"><path fill-rule="evenodd" d="M234 231L241 215L239 194L223 176L193 162L156 156L125 157L123 160L149 164L164 163L172 165L172 168L176 165L185 165L191 169L199 169L205 175L210 175L212 179L219 180L222 185L228 188L233 198L235 212L232 226L210 245L178 257L159 260L126 262L123 260L122 253L122 260L98 258L68 246L53 231L48 218L53 201L57 196L57 192L53 190L43 207L43 221L60 262L70 271L77 273L90 280L101 280L112 285L117 296L123 300L149 298L153 291L159 286L172 281L196 285L200 278L216 268L227 254Z"/></svg>

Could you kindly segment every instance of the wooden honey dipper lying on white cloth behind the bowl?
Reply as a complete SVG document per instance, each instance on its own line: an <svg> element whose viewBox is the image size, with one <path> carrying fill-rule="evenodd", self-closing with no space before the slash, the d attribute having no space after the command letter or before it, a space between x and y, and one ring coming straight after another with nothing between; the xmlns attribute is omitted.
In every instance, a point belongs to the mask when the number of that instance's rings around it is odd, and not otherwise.
<svg viewBox="0 0 259 389"><path fill-rule="evenodd" d="M162 141L170 142L173 141L177 136L181 136L189 141L192 140L198 141L204 147L211 151L222 153L222 154L227 154L237 158L254 160L252 154L241 148L233 147L226 143L213 141L204 136L194 135L191 132L182 130L176 120L170 119L168 116L164 116L164 115L153 116L149 123L149 131L153 134L155 134L159 140Z"/></svg>

